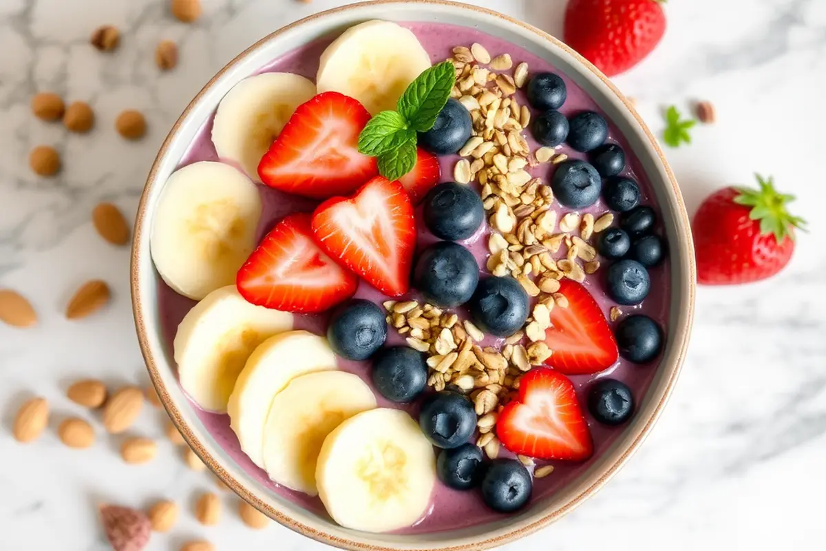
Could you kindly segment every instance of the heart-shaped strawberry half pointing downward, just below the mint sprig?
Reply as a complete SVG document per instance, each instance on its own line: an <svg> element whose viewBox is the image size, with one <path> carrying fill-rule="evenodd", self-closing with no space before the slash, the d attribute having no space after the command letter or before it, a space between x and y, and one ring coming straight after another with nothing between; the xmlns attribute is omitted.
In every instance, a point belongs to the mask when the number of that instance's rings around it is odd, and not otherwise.
<svg viewBox="0 0 826 551"><path fill-rule="evenodd" d="M353 197L333 197L312 217L316 241L379 291L398 297L410 288L415 221L401 183L377 176Z"/></svg>

